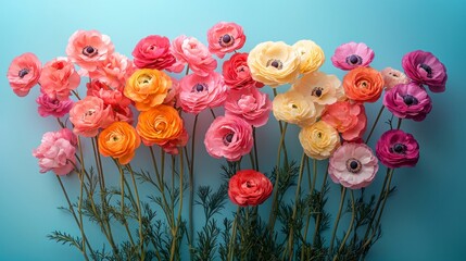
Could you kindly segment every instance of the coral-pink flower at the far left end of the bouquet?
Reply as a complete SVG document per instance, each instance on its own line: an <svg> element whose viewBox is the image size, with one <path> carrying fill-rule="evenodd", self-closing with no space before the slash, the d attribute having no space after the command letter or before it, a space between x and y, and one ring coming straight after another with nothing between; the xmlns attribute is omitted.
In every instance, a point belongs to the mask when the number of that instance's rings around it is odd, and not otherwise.
<svg viewBox="0 0 466 261"><path fill-rule="evenodd" d="M41 63L36 54L26 52L13 59L8 69L8 80L14 94L25 97L39 83Z"/></svg>

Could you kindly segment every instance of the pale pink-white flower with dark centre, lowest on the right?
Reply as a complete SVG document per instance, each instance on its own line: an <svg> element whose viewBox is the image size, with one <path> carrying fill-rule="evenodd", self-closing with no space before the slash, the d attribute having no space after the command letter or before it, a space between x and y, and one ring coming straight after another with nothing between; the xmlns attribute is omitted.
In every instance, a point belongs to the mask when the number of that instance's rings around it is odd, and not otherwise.
<svg viewBox="0 0 466 261"><path fill-rule="evenodd" d="M365 144L343 144L328 162L331 181L351 189L369 186L378 170L378 160Z"/></svg>

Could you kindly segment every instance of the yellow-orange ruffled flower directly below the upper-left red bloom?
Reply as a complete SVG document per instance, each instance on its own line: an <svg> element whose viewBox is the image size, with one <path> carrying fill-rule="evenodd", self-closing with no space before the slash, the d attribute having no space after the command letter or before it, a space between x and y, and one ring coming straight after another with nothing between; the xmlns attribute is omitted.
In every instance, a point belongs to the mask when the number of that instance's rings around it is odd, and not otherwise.
<svg viewBox="0 0 466 261"><path fill-rule="evenodd" d="M155 69L141 69L126 82L124 94L135 101L136 109L148 111L162 104L172 87L172 78Z"/></svg>

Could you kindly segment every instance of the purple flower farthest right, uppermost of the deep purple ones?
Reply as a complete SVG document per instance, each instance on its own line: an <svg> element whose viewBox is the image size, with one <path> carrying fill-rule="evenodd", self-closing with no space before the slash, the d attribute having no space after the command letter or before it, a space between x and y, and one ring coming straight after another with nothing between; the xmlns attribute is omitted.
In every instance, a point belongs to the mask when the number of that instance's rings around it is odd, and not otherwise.
<svg viewBox="0 0 466 261"><path fill-rule="evenodd" d="M430 52L412 51L402 60L402 66L412 80L429 86L433 92L445 91L446 67Z"/></svg>

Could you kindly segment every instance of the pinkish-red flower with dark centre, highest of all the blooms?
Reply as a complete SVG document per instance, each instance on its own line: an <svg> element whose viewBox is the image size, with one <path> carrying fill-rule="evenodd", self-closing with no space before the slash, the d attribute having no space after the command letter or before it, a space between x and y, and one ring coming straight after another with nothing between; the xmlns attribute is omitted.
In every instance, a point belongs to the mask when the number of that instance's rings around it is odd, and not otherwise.
<svg viewBox="0 0 466 261"><path fill-rule="evenodd" d="M245 42L242 27L232 22L219 22L207 30L209 51L218 58L241 49Z"/></svg>

